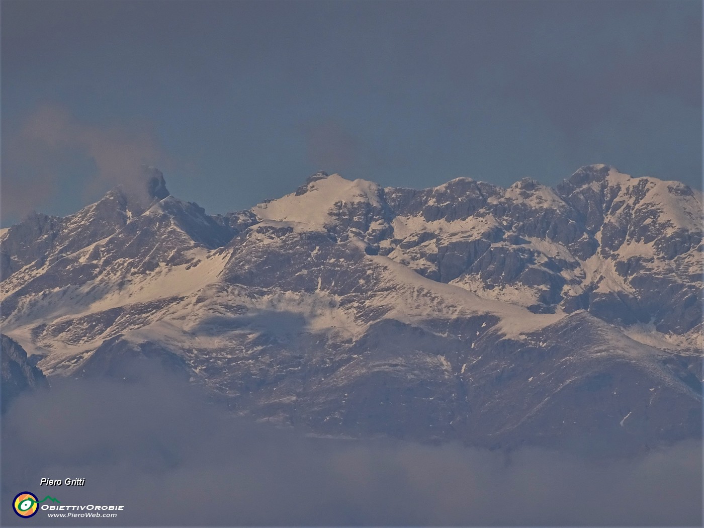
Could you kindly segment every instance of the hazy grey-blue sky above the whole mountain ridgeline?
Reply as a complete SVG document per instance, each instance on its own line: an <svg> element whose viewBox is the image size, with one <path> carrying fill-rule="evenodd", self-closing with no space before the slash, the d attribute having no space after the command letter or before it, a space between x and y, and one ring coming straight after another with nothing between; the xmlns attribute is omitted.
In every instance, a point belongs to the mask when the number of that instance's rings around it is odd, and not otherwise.
<svg viewBox="0 0 704 528"><path fill-rule="evenodd" d="M609 163L700 187L699 1L2 3L3 222L122 168L211 213L315 170L554 184Z"/></svg>

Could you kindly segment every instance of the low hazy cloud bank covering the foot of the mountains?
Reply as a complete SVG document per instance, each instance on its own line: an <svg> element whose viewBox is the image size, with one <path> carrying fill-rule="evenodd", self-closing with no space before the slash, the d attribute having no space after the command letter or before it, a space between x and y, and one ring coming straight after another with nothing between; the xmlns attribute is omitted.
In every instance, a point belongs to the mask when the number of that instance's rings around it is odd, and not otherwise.
<svg viewBox="0 0 704 528"><path fill-rule="evenodd" d="M41 477L81 477L86 486L56 496L124 504L113 521L122 526L701 522L696 442L605 463L536 448L308 439L237 420L157 369L142 375L70 380L15 401L2 424L3 500L37 491Z"/></svg>

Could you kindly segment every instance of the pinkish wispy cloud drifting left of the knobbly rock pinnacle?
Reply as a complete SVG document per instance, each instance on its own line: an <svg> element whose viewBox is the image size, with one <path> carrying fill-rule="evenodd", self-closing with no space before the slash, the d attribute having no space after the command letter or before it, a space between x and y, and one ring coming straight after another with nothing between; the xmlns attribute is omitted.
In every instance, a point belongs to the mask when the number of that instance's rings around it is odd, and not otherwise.
<svg viewBox="0 0 704 528"><path fill-rule="evenodd" d="M75 188L70 168L86 163L94 167L84 198L118 184L139 196L145 189L142 165L168 161L155 132L144 124L94 125L64 106L40 106L4 142L3 218L18 218L46 205L62 184Z"/></svg>

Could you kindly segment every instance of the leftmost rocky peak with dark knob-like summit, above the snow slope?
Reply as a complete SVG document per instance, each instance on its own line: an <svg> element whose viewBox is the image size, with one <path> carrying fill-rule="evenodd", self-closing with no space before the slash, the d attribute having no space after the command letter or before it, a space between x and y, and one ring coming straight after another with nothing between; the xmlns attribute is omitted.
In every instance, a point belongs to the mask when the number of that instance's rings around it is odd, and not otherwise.
<svg viewBox="0 0 704 528"><path fill-rule="evenodd" d="M160 262L186 262L184 252L224 246L239 232L231 225L237 222L234 218L206 215L198 204L168 194L160 171L142 169L140 181L143 190L149 191L150 202L134 194L134 186L120 185L73 215L33 214L10 227L0 241L3 291L15 291L23 281L47 273L69 282L80 273L94 277L125 256L149 256L137 269L153 268ZM93 255L109 258L83 270ZM72 274L70 269L77 271Z"/></svg>

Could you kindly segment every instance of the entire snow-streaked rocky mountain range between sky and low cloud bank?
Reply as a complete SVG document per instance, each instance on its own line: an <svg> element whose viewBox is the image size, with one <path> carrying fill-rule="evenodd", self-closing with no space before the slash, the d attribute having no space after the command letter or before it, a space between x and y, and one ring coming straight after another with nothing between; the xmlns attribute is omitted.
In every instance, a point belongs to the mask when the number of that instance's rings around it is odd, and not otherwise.
<svg viewBox="0 0 704 528"><path fill-rule="evenodd" d="M555 188L318 172L208 215L146 171L0 233L2 332L51 377L204 384L258 420L481 446L701 434L702 196L580 168Z"/></svg>

